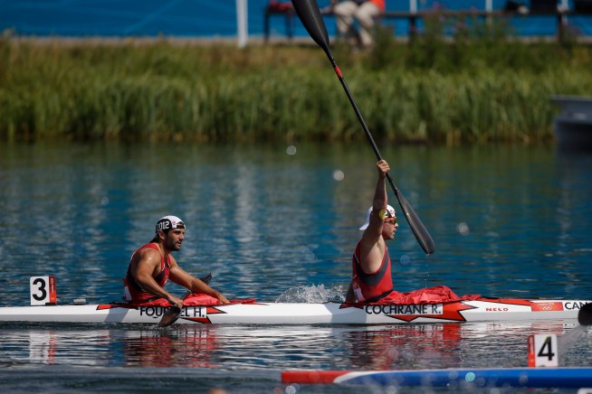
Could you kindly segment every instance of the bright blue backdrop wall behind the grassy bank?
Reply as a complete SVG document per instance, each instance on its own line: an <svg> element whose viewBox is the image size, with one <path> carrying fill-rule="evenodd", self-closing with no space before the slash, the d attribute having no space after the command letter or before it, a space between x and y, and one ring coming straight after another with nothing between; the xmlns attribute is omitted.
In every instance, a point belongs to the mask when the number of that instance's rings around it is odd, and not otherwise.
<svg viewBox="0 0 592 394"><path fill-rule="evenodd" d="M255 38L263 36L263 10L267 0L248 1L248 31ZM329 0L319 0L319 5ZM529 4L528 1L524 2ZM573 1L569 1L573 9ZM492 9L499 10L504 0L493 0ZM175 36L175 37L235 37L236 3L231 0L0 0L0 31L12 29L19 35L34 36ZM485 2L473 0L419 0L418 9L434 6L447 9L484 9ZM387 10L408 11L406 1L387 0ZM335 34L335 21L327 17L330 35ZM511 26L523 36L554 36L555 16L514 17ZM592 17L569 16L568 24L575 33L592 34ZM396 36L406 36L406 19L387 21ZM282 17L272 17L272 36L285 37ZM421 28L421 24L419 26ZM295 23L295 35L308 33Z"/></svg>

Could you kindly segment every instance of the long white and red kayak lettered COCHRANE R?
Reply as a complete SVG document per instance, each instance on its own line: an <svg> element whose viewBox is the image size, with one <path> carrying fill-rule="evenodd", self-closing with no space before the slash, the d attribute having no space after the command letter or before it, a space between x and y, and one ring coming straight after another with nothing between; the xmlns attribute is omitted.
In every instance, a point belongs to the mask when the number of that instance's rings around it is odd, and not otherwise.
<svg viewBox="0 0 592 394"><path fill-rule="evenodd" d="M590 300L478 298L444 304L248 303L185 306L176 324L431 324L578 319ZM0 307L0 322L158 324L167 307Z"/></svg>

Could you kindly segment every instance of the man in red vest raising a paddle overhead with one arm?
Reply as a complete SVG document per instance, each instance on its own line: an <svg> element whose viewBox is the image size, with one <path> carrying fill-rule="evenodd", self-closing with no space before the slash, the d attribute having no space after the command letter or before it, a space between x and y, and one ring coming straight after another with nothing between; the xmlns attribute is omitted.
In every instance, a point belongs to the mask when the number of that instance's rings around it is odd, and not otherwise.
<svg viewBox="0 0 592 394"><path fill-rule="evenodd" d="M346 302L376 302L393 291L391 263L386 241L395 238L396 213L387 203L387 172L385 160L377 163L378 182L374 201L368 210L364 230L352 258L353 276Z"/></svg>

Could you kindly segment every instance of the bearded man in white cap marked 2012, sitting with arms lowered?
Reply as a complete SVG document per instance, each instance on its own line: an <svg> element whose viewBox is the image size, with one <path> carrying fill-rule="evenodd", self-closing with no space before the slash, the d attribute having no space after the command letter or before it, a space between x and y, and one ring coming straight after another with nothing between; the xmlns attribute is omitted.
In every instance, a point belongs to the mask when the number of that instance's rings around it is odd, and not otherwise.
<svg viewBox="0 0 592 394"><path fill-rule="evenodd" d="M183 306L181 298L171 295L164 288L170 278L194 294L212 296L220 303L228 304L225 296L186 273L171 256L171 252L181 249L185 230L185 223L177 216L165 216L158 220L154 238L136 250L129 261L128 274L123 280L126 301L145 304L164 298L171 305Z"/></svg>

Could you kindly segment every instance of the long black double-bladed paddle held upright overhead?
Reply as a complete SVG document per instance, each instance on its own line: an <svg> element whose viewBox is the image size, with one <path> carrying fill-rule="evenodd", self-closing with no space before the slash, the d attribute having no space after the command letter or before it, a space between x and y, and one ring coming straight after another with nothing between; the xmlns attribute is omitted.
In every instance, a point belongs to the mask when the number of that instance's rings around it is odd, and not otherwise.
<svg viewBox="0 0 592 394"><path fill-rule="evenodd" d="M374 153L377 155L377 159L382 160L382 156L380 155L380 152L378 152L378 148L376 143L374 142L374 138L372 138L370 130L368 130L368 126L366 126L366 122L364 121L362 114L359 112L358 106L356 105L356 101L354 101L354 98L351 96L351 93L349 92L349 88L343 78L343 74L341 73L341 70L339 70L337 63L335 62L335 59L333 59L333 55L329 50L329 34L327 33L327 27L325 26L325 22L323 21L323 18L320 14L319 5L317 5L317 0L291 0L291 3L292 5L294 5L296 14L298 14L298 16L301 18L301 22L306 28L307 32L309 32L310 37L312 37L312 40L314 40L314 42L317 42L320 48L322 48L322 50L327 54L327 57L329 58L329 61L333 66L333 70L335 70L335 73L337 74L337 77L341 82L341 86L343 86L343 89L348 95L349 102L351 103L351 106L354 108L354 111L356 111L358 120L362 124L362 127L366 132L368 141L370 142L370 145L372 145ZM388 183L390 183L390 187L393 189L393 192L395 192L396 200L399 202L401 210L405 214L405 218L409 223L409 227L411 227L411 230L415 235L415 239L417 239L419 245L421 245L425 253L431 255L432 253L434 253L434 240L430 236L430 233L427 232L427 230L425 230L424 223L422 223L422 221L419 220L419 218L415 214L415 211L413 210L413 208L411 208L409 202L407 202L405 196L398 191L398 189L395 186L395 183L393 183L393 180L391 179L390 174L388 173L387 180Z"/></svg>

